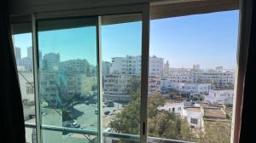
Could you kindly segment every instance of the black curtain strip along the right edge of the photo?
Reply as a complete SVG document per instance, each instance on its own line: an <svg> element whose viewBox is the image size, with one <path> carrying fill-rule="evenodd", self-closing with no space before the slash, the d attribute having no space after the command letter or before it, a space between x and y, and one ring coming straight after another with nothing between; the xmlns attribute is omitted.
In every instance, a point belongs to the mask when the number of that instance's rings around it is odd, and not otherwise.
<svg viewBox="0 0 256 143"><path fill-rule="evenodd" d="M253 7L250 43L247 57L247 72L244 86L243 106L241 113L241 134L240 142L256 142L255 121L256 121L256 82L255 82L255 49L256 49L256 1L253 0Z"/></svg>

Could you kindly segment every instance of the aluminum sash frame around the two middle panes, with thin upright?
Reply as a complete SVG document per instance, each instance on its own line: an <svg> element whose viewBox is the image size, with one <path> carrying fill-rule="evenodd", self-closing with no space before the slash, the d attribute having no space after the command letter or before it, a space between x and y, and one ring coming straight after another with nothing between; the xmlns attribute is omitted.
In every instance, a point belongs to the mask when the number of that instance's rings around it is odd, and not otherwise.
<svg viewBox="0 0 256 143"><path fill-rule="evenodd" d="M33 63L34 63L34 84L35 84L35 100L36 101L36 128L37 128L37 140L38 143L43 142L41 129L60 129L74 131L76 129L69 129L63 127L47 126L41 123L40 114L40 97L38 94L38 31L37 31L37 21L38 20L51 20L51 19L65 19L65 18L76 18L76 17L98 17L96 25L96 43L97 43L97 66L98 72L98 83L99 83L99 98L98 98L98 110L100 115L99 126L98 126L98 138L102 142L103 132L102 132L102 47L101 47L101 16L112 15L112 14L142 14L142 73L141 73L141 87L148 87L148 54L149 54L149 4L132 4L125 6L115 6L108 8L99 9L79 9L79 10L67 10L67 11L55 11L55 12L45 12L32 14L32 42L33 42ZM140 123L140 142L147 142L147 104L148 103L148 88L141 89L141 123ZM133 138L137 139L137 135Z"/></svg>

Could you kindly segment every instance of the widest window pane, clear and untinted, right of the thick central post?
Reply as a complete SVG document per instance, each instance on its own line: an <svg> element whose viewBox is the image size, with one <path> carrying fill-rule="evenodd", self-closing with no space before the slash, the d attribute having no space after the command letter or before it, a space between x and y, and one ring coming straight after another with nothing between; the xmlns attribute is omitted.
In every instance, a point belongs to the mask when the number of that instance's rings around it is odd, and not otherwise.
<svg viewBox="0 0 256 143"><path fill-rule="evenodd" d="M230 142L238 17L150 21L148 142Z"/></svg>

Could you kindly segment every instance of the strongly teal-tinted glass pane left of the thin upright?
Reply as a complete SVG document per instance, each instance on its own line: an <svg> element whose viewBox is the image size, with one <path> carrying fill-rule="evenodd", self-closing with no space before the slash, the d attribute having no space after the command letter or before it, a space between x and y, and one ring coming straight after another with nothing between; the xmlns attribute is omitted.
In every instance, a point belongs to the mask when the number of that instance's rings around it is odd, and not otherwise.
<svg viewBox="0 0 256 143"><path fill-rule="evenodd" d="M98 132L96 20L38 20L42 124ZM44 142L67 135L49 132Z"/></svg>

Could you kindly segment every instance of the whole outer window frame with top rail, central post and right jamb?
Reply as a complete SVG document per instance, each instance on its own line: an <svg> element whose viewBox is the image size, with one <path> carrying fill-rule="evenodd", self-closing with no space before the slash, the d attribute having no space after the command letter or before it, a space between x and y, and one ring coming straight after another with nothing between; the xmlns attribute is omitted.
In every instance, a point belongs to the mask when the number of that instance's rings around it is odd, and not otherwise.
<svg viewBox="0 0 256 143"><path fill-rule="evenodd" d="M237 0L238 1L238 0ZM222 1L224 2L224 1ZM178 3L178 2L177 2ZM219 2L218 2L219 3ZM238 2L237 2L238 3ZM236 58L236 91L234 93L234 100L233 100L233 117L232 117L232 124L231 124L231 140L230 142L239 142L239 135L240 135L240 127L241 127L241 107L242 107L242 98L243 98L243 90L244 90L244 78L246 74L246 66L247 66L247 51L248 51L248 40L249 40L249 33L250 33L250 12L252 9L245 9L248 5L250 5L252 1L244 2L239 0L239 31L238 31L238 46L237 46L237 58ZM155 3L150 3L152 5L156 5ZM170 4L170 3L167 3ZM173 3L175 4L175 3ZM227 4L226 4L227 5ZM196 6L195 6L196 7ZM250 8L250 7L248 7ZM33 43L33 66L34 66L34 94L35 94L35 102L36 102L36 125L26 123L27 128L37 128L37 136L38 136L38 143L41 143L41 136L40 136L40 110L38 109L39 105L39 98L38 98L38 46L37 46L37 33L36 33L36 20L38 19L49 19L49 18L56 18L56 17L73 17L73 16L90 16L90 15L104 15L104 14L129 14L129 13L138 13L141 12L143 14L143 51L142 51L142 82L141 85L148 87L148 47L149 47L149 16L152 14L152 11L149 10L150 6L149 3L144 4L131 4L125 6L115 6L115 7L103 7L103 8L96 8L96 9L77 9L77 10L59 10L55 12L45 11L44 13L32 13L32 14L24 14L24 15L11 15L10 16L10 23L11 24L19 24L19 23L32 23L32 43ZM152 9L152 8L151 8ZM179 9L182 11L182 9ZM213 9L211 12L214 11L224 11L230 10L230 8L224 9L218 8ZM173 10L172 10L173 11ZM174 10L175 11L175 10ZM204 10L201 10L204 11ZM196 14L202 14L199 10L196 11ZM207 10L206 10L207 11ZM208 12L207 12L208 13ZM210 12L209 12L210 13ZM163 13L161 13L163 14ZM171 16L167 17L175 17L175 16L183 16L189 15L190 13L181 12L178 14L177 12L171 14ZM154 13L154 17L157 14ZM161 15L160 15L161 16ZM166 16L166 14L164 14ZM243 21L245 20L245 21ZM100 43L99 43L100 44ZM100 53L99 53L100 54ZM143 76L144 75L144 76ZM147 79L146 79L147 78ZM142 89L142 101L141 101L141 142L147 141L147 103L148 103L148 88ZM235 100L236 99L236 100ZM142 128L143 127L143 128ZM145 132L143 134L143 131Z"/></svg>

